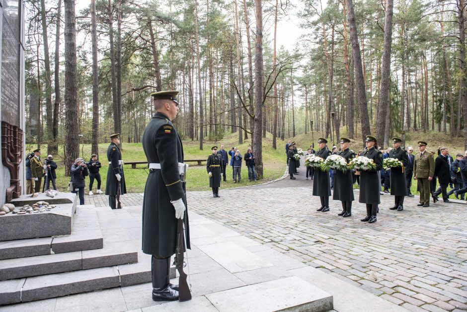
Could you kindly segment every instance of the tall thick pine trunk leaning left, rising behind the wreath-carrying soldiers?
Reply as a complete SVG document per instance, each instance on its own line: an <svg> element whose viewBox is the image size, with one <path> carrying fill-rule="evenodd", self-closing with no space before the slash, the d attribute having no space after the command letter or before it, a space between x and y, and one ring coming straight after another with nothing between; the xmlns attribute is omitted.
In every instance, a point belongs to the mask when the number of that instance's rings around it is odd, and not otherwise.
<svg viewBox="0 0 467 312"><path fill-rule="evenodd" d="M367 95L365 93L365 80L363 78L362 57L360 55L360 46L357 37L357 24L355 22L355 13L353 0L347 0L347 16L350 28L350 42L352 45L352 55L355 67L355 78L357 85L357 99L360 106L360 121L362 123L362 140L365 136L371 134L370 120L368 118Z"/></svg>

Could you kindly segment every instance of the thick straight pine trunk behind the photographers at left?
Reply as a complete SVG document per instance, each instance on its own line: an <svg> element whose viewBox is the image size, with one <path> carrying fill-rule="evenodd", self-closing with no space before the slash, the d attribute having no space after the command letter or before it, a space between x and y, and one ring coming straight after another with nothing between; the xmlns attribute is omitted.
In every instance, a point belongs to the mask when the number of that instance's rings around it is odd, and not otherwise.
<svg viewBox="0 0 467 312"><path fill-rule="evenodd" d="M79 155L75 0L65 3L65 175Z"/></svg>

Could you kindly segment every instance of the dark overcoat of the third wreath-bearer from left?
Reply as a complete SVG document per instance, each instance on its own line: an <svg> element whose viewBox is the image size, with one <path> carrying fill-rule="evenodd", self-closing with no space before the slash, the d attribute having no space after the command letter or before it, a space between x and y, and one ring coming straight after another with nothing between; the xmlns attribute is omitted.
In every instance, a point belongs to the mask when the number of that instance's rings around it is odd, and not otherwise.
<svg viewBox="0 0 467 312"><path fill-rule="evenodd" d="M378 171L383 168L383 154L374 147L363 151L360 156L373 159L376 169L372 171L360 171L360 198L359 203L380 204L381 181Z"/></svg>

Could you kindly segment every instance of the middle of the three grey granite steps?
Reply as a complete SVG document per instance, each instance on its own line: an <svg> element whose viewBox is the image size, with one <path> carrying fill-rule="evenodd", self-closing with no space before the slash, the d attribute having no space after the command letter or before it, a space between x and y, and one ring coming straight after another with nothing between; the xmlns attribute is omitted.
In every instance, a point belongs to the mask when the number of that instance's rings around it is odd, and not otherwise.
<svg viewBox="0 0 467 312"><path fill-rule="evenodd" d="M120 241L107 243L102 249L0 260L0 281L135 262L137 248L129 241Z"/></svg>

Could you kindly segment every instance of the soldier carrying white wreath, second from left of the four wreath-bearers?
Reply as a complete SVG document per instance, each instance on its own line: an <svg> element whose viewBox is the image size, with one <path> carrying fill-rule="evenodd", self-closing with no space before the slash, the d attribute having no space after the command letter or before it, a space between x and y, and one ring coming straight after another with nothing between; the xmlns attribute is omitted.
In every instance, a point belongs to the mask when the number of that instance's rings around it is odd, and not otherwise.
<svg viewBox="0 0 467 312"><path fill-rule="evenodd" d="M350 140L345 137L340 138L340 151L337 155L342 156L347 163L355 158L355 152L349 148ZM353 177L352 172L348 170L343 172L336 170L334 178L334 192L332 199L342 202L342 212L337 215L348 217L352 215L352 202L354 201Z"/></svg>

